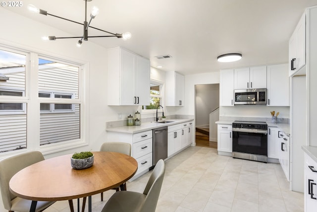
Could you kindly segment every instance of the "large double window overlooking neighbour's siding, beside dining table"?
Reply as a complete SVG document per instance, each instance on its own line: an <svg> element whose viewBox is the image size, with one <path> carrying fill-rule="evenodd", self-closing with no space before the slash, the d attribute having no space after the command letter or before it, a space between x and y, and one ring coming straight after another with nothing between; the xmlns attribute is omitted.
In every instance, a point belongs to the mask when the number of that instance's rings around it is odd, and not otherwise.
<svg viewBox="0 0 317 212"><path fill-rule="evenodd" d="M86 143L85 65L7 46L0 59L0 157Z"/></svg>

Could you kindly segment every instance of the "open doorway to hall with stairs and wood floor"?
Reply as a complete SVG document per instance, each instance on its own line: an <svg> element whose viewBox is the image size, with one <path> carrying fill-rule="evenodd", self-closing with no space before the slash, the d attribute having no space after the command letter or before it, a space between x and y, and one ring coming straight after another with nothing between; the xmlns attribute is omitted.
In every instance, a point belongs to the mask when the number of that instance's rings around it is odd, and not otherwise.
<svg viewBox="0 0 317 212"><path fill-rule="evenodd" d="M219 84L195 85L196 145L217 148Z"/></svg>

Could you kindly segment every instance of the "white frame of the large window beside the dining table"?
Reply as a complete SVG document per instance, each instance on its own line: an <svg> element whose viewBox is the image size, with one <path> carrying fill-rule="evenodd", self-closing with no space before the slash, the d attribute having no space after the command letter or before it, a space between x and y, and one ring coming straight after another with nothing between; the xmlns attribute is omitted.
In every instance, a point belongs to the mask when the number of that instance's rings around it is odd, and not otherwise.
<svg viewBox="0 0 317 212"><path fill-rule="evenodd" d="M76 60L74 58L61 56L60 54L53 54L52 52L39 51L39 49L30 48L29 46L16 45L12 43L1 43L0 49L13 53L25 55L25 84L24 96L0 96L0 102L18 102L23 103L26 111L26 148L10 150L0 153L0 159L10 155L18 154L25 151L38 150L45 154L52 154L55 152L74 149L81 146L89 145L88 138L88 108L87 102L88 93L88 72L89 63L87 61ZM57 63L64 63L67 65L78 67L78 95L73 99L65 98L39 98L38 97L38 70L39 58L53 60ZM52 143L50 145L40 145L40 103L58 103L58 104L78 104L80 110L80 138L68 141L61 141ZM77 107L77 106L76 106ZM15 113L16 114L16 113Z"/></svg>

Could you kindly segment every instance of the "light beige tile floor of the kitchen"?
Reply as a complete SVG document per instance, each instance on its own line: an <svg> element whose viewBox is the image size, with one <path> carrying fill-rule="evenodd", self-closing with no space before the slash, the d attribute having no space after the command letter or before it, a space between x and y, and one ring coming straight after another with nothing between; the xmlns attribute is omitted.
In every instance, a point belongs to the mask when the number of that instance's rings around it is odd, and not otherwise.
<svg viewBox="0 0 317 212"><path fill-rule="evenodd" d="M200 146L185 149L165 164L156 212L304 211L303 193L289 191L279 164L234 159ZM127 189L143 192L150 174L128 182ZM94 195L92 211L100 212L113 193L105 192L104 202L100 194ZM76 200L74 207L77 211ZM56 202L45 212L69 212L68 202Z"/></svg>

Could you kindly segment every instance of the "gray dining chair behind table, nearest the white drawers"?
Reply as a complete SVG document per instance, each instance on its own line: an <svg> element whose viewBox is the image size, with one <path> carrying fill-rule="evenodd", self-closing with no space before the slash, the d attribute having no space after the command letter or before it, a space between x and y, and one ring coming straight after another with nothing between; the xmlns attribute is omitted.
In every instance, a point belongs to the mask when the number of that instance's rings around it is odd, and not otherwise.
<svg viewBox="0 0 317 212"><path fill-rule="evenodd" d="M122 154L127 154L131 156L131 144L125 143L125 142L105 142L101 145L100 151L113 151L113 152L119 152ZM123 187L123 190L127 190L126 183L123 183L120 187ZM120 187L113 188L117 192L120 191ZM85 210L87 198L83 198L83 206L82 206L82 212ZM101 193L101 201L104 201L104 192Z"/></svg>

